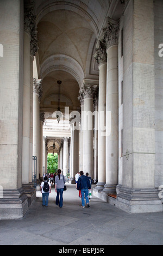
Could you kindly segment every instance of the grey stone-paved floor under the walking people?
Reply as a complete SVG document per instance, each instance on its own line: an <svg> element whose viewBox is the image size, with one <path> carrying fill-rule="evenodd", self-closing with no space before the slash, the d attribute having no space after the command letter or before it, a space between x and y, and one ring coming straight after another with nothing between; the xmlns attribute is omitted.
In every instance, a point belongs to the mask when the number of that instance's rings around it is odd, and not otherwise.
<svg viewBox="0 0 163 256"><path fill-rule="evenodd" d="M62 208L54 186L47 208L38 191L22 220L0 221L0 245L163 245L163 212L127 214L95 197L82 209L75 186Z"/></svg>

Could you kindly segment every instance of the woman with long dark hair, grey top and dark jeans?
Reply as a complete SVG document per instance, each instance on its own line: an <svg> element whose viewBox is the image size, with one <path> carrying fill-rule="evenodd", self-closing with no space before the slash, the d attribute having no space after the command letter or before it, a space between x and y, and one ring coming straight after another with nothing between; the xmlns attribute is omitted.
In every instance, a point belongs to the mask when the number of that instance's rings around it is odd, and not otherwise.
<svg viewBox="0 0 163 256"><path fill-rule="evenodd" d="M61 170L59 169L58 175L55 176L55 192L57 193L55 204L59 205L60 208L63 205L63 192L64 192L65 182L66 182L65 176L61 174Z"/></svg>

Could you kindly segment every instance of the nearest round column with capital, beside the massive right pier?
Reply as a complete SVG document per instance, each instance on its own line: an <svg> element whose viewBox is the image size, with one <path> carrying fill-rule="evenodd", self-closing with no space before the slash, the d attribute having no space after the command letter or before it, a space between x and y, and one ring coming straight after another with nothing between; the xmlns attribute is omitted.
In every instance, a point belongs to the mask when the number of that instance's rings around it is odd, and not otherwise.
<svg viewBox="0 0 163 256"><path fill-rule="evenodd" d="M103 29L107 44L106 184L103 191L110 194L116 194L118 184L118 30L118 23L108 18L108 25Z"/></svg>

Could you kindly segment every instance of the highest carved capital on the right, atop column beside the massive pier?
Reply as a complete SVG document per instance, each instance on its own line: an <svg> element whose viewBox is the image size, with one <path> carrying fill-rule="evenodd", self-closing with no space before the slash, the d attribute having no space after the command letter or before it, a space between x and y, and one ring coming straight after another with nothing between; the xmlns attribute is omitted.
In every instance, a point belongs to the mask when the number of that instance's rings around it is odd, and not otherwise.
<svg viewBox="0 0 163 256"><path fill-rule="evenodd" d="M107 26L103 28L104 38L106 42L106 47L108 48L111 45L118 44L118 32L120 24L117 21L107 18Z"/></svg>

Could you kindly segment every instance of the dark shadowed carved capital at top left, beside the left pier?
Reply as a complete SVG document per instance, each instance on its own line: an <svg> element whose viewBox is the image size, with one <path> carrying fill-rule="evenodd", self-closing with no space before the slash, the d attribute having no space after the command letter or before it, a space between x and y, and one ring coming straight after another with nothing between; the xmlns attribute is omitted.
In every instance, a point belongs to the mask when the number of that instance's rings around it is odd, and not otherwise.
<svg viewBox="0 0 163 256"><path fill-rule="evenodd" d="M30 53L35 56L39 50L37 40L36 16L34 15L34 4L26 4L24 6L24 31L27 31L31 36Z"/></svg>

